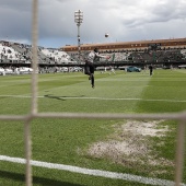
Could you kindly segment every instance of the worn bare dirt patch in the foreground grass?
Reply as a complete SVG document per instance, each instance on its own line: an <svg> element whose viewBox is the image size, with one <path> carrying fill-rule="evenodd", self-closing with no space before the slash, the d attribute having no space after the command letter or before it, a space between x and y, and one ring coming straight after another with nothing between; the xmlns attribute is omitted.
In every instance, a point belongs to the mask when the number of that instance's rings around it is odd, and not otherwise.
<svg viewBox="0 0 186 186"><path fill-rule="evenodd" d="M106 158L115 163L138 166L159 165L172 166L173 163L165 159L155 158L151 153L152 137L163 137L168 131L167 126L161 127L162 120L139 121L127 120L124 125L115 125L115 133L109 137L108 141L100 141L92 144L88 151L89 155L94 158ZM162 146L161 143L159 146Z"/></svg>

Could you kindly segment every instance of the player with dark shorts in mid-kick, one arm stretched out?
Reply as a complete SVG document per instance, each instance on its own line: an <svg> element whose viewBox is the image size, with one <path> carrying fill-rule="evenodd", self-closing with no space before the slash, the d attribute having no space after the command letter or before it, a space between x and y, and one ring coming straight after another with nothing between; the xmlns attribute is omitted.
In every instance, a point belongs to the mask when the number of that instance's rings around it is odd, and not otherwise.
<svg viewBox="0 0 186 186"><path fill-rule="evenodd" d="M109 56L102 56L98 54L98 49L95 48L93 51L91 51L88 55L88 58L85 60L85 66L84 66L84 73L89 75L89 80L91 80L91 84L92 88L94 88L94 62L98 59L98 58L106 58L109 59Z"/></svg>

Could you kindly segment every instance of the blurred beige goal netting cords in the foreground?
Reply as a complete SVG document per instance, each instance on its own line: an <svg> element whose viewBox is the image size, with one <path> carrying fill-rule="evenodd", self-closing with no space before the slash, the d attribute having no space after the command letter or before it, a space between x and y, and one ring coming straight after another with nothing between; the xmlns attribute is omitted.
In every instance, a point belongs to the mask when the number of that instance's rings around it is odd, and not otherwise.
<svg viewBox="0 0 186 186"><path fill-rule="evenodd" d="M33 36L33 62L32 67L34 73L32 74L32 106L28 115L15 116L15 115L1 115L0 120L23 120L25 130L25 158L26 158L26 186L32 186L32 141L31 141L31 121L35 118L82 118L82 119L174 119L179 121L177 130L177 146L176 146L176 166L175 166L175 185L179 186L183 177L184 166L184 143L185 143L185 130L186 130L186 112L172 113L172 114L85 114L85 113L38 113L37 112L37 21L38 21L38 0L33 0L33 23L32 23L32 36Z"/></svg>

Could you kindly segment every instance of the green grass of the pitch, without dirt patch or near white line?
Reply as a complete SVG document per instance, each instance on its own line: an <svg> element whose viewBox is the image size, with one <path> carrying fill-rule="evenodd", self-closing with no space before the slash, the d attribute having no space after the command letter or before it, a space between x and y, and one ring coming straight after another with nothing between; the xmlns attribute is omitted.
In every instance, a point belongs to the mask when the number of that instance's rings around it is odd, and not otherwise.
<svg viewBox="0 0 186 186"><path fill-rule="evenodd" d="M31 75L0 77L0 114L28 114ZM155 70L152 77L143 72L117 71L116 75L96 72L95 89L91 88L88 77L81 72L38 74L38 96L39 113L177 113L186 109L186 71ZM119 133L116 128L125 123L121 119L36 118L32 121L32 159L174 181L174 164L153 165L143 162L153 158L174 163L176 120L164 120L156 126L168 128L165 136L141 139L151 151L150 154L138 156L138 162L127 161L124 155L124 165L107 155L96 158L88 153L90 146L95 142L117 139ZM23 132L22 121L0 120L0 154L24 158ZM0 185L24 185L24 165L1 161ZM186 161L184 183L185 173ZM144 185L43 167L33 167L33 185L36 186Z"/></svg>

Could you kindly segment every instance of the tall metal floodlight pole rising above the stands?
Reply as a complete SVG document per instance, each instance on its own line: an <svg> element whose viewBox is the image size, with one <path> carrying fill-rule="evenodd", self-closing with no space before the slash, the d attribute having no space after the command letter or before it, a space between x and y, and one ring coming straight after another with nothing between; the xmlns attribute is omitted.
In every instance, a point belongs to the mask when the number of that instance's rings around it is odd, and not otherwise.
<svg viewBox="0 0 186 186"><path fill-rule="evenodd" d="M83 22L83 12L81 10L74 12L74 22L77 23L78 26L78 51L79 51L79 62L80 62L80 56L81 56L80 25Z"/></svg>

